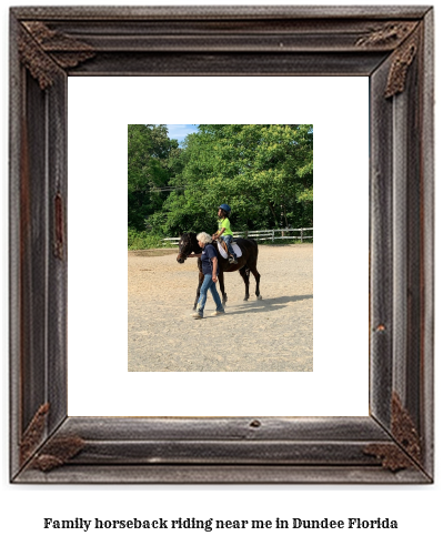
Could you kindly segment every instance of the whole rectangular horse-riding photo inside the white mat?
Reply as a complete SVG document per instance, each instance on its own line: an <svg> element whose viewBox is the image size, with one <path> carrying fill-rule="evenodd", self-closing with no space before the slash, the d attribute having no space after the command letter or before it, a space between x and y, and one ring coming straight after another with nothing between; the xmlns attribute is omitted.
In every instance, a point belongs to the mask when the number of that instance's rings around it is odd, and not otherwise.
<svg viewBox="0 0 443 546"><path fill-rule="evenodd" d="M128 125L129 372L313 371L313 142Z"/></svg>

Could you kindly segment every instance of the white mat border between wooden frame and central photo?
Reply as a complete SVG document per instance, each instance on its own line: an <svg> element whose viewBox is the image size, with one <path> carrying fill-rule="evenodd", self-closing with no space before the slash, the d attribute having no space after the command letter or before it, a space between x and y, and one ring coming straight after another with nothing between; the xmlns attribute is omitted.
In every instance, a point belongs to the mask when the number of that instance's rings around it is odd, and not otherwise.
<svg viewBox="0 0 443 546"><path fill-rule="evenodd" d="M368 415L369 79L70 78L68 97L68 414ZM314 373L127 372L127 133L148 121L314 124Z"/></svg>

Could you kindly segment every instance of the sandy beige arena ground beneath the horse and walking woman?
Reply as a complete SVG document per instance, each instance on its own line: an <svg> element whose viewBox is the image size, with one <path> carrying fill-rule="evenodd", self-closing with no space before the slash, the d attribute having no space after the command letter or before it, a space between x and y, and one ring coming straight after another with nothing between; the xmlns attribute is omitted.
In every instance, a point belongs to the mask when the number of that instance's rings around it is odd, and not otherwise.
<svg viewBox="0 0 443 546"><path fill-rule="evenodd" d="M312 372L313 244L261 245L260 292L250 300L238 272L224 275L225 316L192 318L197 260L177 252L128 253L128 370L130 372ZM219 285L218 285L219 286ZM220 292L220 291L219 291Z"/></svg>

